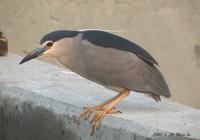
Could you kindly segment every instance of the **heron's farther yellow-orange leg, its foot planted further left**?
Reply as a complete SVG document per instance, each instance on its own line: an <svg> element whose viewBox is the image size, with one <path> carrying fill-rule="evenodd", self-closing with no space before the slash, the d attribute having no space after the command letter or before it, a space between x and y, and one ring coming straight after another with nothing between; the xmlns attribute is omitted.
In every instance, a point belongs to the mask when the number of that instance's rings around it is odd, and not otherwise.
<svg viewBox="0 0 200 140"><path fill-rule="evenodd" d="M85 120L87 120L91 116L92 112L103 111L104 106L116 100L117 98L119 98L119 96L120 94L94 107L84 107L85 110L79 115L79 117L76 118L75 122L79 124L82 117L85 117ZM114 112L119 112L119 111L114 109Z"/></svg>

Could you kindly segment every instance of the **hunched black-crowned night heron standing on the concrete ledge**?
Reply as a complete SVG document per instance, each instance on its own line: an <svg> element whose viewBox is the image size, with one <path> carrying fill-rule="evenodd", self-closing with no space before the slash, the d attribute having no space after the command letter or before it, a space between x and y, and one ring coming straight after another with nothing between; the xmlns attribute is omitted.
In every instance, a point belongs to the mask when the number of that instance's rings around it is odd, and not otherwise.
<svg viewBox="0 0 200 140"><path fill-rule="evenodd" d="M100 30L59 30L46 34L42 48L29 53L20 64L38 56L53 56L77 74L119 94L104 103L87 107L76 119L90 118L92 134L106 114L118 112L114 107L130 91L145 93L155 101L170 97L169 88L155 65L157 61L137 44Z"/></svg>

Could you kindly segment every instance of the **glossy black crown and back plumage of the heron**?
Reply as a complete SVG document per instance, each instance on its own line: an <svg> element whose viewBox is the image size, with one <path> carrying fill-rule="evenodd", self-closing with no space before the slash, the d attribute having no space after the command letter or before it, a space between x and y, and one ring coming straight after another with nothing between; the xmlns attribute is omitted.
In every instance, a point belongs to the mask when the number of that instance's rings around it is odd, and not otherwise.
<svg viewBox="0 0 200 140"><path fill-rule="evenodd" d="M97 46L132 52L135 53L138 57L145 60L146 62L158 65L157 61L139 45L123 37L101 30L57 30L43 36L40 40L40 44L43 44L44 42L49 40L56 42L62 38L75 37L79 33L83 34L83 39L88 40Z"/></svg>

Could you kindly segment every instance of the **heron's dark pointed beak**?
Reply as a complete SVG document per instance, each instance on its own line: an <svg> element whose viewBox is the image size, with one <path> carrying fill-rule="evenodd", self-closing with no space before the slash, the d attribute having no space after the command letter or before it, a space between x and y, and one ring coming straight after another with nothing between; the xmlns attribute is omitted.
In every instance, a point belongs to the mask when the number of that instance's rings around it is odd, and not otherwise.
<svg viewBox="0 0 200 140"><path fill-rule="evenodd" d="M27 62L31 59L34 59L36 57L39 57L41 55L43 55L43 53L48 50L48 47L44 47L44 48L36 48L35 50L33 50L32 52L30 52L28 55L26 55L19 64L22 64L24 62Z"/></svg>

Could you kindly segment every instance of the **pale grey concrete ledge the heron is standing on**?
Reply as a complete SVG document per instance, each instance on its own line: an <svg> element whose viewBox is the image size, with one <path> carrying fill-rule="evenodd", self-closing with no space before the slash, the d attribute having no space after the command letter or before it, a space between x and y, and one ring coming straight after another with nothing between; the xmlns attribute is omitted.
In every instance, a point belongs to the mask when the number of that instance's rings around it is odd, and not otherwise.
<svg viewBox="0 0 200 140"><path fill-rule="evenodd" d="M77 127L74 117L116 93L44 62L18 65L20 59L0 58L0 140L200 139L200 110L134 93L117 106L122 114L106 116L90 136L89 123Z"/></svg>

